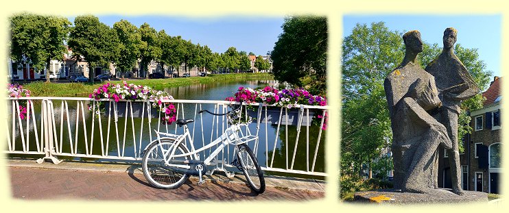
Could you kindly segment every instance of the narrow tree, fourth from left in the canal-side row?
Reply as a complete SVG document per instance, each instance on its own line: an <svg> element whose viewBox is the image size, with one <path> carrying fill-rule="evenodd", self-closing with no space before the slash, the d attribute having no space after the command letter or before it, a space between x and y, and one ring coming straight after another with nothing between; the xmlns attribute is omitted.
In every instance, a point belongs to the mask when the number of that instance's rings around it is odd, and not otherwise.
<svg viewBox="0 0 509 213"><path fill-rule="evenodd" d="M150 27L149 24L143 23L140 26L139 33L141 35L141 66L140 71L148 78L147 66L152 60L161 58L161 48L156 29ZM141 75L141 73L140 73Z"/></svg>

